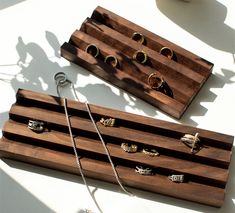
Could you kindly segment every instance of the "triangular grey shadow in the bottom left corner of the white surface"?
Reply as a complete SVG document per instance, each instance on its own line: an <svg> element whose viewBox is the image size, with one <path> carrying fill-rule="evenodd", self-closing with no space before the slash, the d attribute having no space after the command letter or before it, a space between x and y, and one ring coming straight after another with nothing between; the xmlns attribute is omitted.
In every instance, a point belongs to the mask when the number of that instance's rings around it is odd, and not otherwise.
<svg viewBox="0 0 235 213"><path fill-rule="evenodd" d="M52 213L54 211L0 169L0 212Z"/></svg>

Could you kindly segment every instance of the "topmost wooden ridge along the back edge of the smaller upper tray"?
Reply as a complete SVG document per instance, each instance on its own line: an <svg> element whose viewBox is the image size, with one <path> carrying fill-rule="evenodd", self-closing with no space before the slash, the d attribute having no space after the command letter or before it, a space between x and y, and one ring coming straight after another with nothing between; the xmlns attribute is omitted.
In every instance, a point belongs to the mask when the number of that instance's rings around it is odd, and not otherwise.
<svg viewBox="0 0 235 213"><path fill-rule="evenodd" d="M176 55L176 59L178 63L181 63L195 71L199 72L200 74L208 77L209 73L208 70L212 69L213 64L206 61L205 59L200 58L199 56L183 49L176 44L172 44L170 41L144 29L136 25L133 22L128 21L121 16L118 16L111 11L106 10L98 6L92 16L92 19L99 21L100 23L122 33L123 35L131 38L134 32L139 32L144 35L146 40L146 46L150 49L153 49L157 52L164 46L172 48Z"/></svg>

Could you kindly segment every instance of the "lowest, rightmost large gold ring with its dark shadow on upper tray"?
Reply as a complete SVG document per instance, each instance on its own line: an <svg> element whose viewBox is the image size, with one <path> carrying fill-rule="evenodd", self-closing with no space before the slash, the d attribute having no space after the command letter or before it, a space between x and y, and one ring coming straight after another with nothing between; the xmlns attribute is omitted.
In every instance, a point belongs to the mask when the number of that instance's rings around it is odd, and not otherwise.
<svg viewBox="0 0 235 213"><path fill-rule="evenodd" d="M158 74L158 72L151 73L148 77L149 86L165 95L173 98L173 92L169 85L164 81L163 77Z"/></svg>

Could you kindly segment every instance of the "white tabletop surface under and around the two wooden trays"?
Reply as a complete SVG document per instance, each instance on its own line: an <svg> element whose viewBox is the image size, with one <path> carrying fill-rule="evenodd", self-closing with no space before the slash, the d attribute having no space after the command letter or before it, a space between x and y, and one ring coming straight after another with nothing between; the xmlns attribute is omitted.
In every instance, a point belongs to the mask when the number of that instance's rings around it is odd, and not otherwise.
<svg viewBox="0 0 235 213"><path fill-rule="evenodd" d="M103 6L215 64L213 75L179 121L59 57L96 6ZM65 72L81 101L234 135L235 5L227 0L0 0L0 128L18 88L56 95L53 75ZM69 89L63 93L74 99ZM235 212L232 158L221 209L89 180L104 213ZM97 212L80 177L0 160L1 213Z"/></svg>

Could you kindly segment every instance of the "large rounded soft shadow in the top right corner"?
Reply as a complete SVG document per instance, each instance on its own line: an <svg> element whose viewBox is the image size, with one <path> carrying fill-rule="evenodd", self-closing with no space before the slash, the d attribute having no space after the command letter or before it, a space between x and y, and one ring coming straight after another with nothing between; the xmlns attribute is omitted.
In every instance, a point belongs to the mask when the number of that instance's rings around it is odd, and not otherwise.
<svg viewBox="0 0 235 213"><path fill-rule="evenodd" d="M216 0L156 0L175 24L218 50L235 53L235 30L224 23L227 8Z"/></svg>

